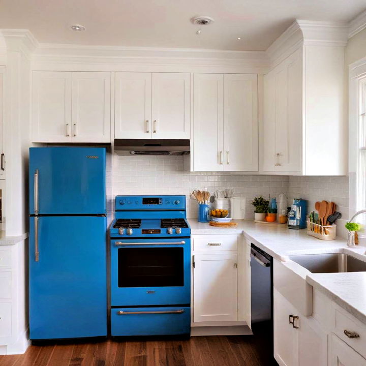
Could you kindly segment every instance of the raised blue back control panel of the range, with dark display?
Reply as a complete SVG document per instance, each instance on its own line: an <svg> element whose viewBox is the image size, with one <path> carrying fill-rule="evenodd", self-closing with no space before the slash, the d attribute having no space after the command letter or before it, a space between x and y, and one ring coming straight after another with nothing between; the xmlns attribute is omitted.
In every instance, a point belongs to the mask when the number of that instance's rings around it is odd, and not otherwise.
<svg viewBox="0 0 366 366"><path fill-rule="evenodd" d="M116 196L116 211L186 210L186 196Z"/></svg>

